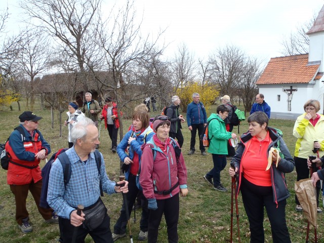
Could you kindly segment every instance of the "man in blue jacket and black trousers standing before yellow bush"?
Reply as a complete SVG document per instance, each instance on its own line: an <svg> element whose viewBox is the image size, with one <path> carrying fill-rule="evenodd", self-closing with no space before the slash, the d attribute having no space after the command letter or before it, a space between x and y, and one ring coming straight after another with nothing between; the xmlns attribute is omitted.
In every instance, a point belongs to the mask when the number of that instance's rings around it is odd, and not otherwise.
<svg viewBox="0 0 324 243"><path fill-rule="evenodd" d="M188 155L194 154L196 144L196 133L198 130L198 138L203 134L204 127L207 124L207 114L203 103L200 102L198 93L192 94L192 102L187 106L187 124L191 132L190 151ZM207 155L203 141L199 139L199 149L202 155Z"/></svg>

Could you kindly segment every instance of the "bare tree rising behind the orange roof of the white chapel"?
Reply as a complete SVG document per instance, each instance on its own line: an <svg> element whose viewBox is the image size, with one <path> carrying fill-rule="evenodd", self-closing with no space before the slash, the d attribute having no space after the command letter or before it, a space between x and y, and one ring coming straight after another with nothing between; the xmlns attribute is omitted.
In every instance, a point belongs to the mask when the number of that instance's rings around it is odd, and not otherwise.
<svg viewBox="0 0 324 243"><path fill-rule="evenodd" d="M282 55L293 56L308 53L309 37L305 33L313 26L315 19L316 15L314 14L309 21L297 26L296 31L291 32L290 36L282 40Z"/></svg>

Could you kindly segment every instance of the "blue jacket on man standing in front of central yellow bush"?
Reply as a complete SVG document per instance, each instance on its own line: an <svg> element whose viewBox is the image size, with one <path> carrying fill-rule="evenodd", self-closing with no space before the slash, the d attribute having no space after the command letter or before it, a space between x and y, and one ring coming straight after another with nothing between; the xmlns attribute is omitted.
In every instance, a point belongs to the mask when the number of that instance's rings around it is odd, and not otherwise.
<svg viewBox="0 0 324 243"><path fill-rule="evenodd" d="M187 124L206 124L207 114L203 103L194 103L193 101L187 106Z"/></svg>

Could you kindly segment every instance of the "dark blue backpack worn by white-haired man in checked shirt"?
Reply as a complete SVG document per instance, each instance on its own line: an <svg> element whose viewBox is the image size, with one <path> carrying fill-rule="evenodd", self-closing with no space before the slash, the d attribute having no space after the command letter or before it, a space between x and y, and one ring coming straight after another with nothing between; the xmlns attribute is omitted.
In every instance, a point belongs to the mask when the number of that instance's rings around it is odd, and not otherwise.
<svg viewBox="0 0 324 243"><path fill-rule="evenodd" d="M56 153L52 155L50 160L46 163L46 165L42 168L42 177L43 177L43 185L42 185L42 191L41 191L41 200L39 200L39 206L45 209L51 208L49 204L47 203L47 190L49 187L49 179L50 179L50 171L52 168L52 164L54 163L56 158L60 159L62 168L63 168L63 178L64 178L64 186L67 185L70 181L71 177L71 163L70 159L68 158L65 151L68 150L68 148L62 148L58 150ZM95 152L95 158L97 163L97 169L100 173L100 166L101 166L101 155L100 152L96 149ZM100 181L100 195L103 196L103 190L102 190L102 184Z"/></svg>

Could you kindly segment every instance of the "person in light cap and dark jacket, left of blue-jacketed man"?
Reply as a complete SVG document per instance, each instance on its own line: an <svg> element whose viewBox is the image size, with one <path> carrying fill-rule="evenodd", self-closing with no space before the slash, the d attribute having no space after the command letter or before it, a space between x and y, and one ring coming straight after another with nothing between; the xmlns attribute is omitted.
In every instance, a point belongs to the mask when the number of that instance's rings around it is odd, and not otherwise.
<svg viewBox="0 0 324 243"><path fill-rule="evenodd" d="M171 119L171 126L169 136L172 138L177 138L180 148L183 145L183 135L181 132L181 123L185 122L182 114L179 114L180 98L175 95L172 97L172 104L167 109L167 116Z"/></svg>

